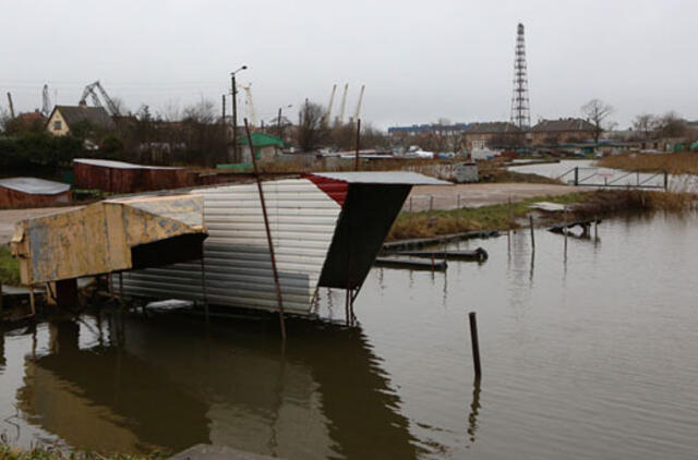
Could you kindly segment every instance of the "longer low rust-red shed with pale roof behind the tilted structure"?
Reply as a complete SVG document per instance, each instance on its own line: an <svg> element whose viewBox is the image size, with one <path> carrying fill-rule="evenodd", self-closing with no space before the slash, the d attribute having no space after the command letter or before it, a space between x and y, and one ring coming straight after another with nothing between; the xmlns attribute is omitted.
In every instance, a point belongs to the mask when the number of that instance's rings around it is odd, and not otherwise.
<svg viewBox="0 0 698 460"><path fill-rule="evenodd" d="M184 168L143 166L124 161L75 158L75 186L111 193L134 193L195 185L195 174Z"/></svg>

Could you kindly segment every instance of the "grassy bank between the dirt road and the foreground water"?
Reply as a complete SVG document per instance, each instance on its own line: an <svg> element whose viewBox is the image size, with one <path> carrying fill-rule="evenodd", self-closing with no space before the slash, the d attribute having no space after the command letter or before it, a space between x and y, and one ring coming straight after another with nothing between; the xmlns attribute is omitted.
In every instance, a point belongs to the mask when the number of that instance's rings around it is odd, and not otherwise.
<svg viewBox="0 0 698 460"><path fill-rule="evenodd" d="M388 240L426 238L471 230L507 230L519 227L519 220L531 211L534 202L570 205L567 218L590 219L622 213L651 210L682 211L690 208L698 196L688 193L664 193L637 190L570 193L562 196L539 196L521 202L422 213L401 213L388 234ZM546 214L546 222L562 221L563 213Z"/></svg>

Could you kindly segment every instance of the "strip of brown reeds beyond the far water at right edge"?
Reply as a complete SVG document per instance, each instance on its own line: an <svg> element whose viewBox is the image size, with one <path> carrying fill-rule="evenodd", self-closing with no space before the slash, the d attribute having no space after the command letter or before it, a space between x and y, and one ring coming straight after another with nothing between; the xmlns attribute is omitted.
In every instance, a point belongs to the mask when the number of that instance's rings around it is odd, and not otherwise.
<svg viewBox="0 0 698 460"><path fill-rule="evenodd" d="M614 155L599 159L598 165L625 170L665 169L671 174L698 174L698 152Z"/></svg>

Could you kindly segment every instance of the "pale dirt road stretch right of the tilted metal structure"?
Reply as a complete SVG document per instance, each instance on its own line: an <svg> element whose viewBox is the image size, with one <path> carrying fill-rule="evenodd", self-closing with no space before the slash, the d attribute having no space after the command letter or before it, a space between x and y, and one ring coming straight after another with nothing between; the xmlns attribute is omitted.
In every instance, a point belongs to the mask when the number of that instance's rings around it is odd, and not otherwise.
<svg viewBox="0 0 698 460"><path fill-rule="evenodd" d="M534 196L557 196L578 192L582 187L533 183L476 183L450 186L419 185L412 189L404 210L457 209L480 207L532 198Z"/></svg>

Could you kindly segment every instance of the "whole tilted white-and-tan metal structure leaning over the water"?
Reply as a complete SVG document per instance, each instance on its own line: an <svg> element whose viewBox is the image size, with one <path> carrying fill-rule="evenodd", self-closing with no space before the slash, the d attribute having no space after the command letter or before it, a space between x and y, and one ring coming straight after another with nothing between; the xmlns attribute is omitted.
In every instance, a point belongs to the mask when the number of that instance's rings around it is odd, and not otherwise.
<svg viewBox="0 0 698 460"><path fill-rule="evenodd" d="M449 183L411 172L328 172L263 182L285 311L309 314L318 287L346 289L353 300L416 184ZM109 199L27 220L19 225L13 246L29 285L120 273L127 296L277 308L253 183ZM84 255L75 254L84 252L99 257L83 263ZM70 269L61 268L73 259Z"/></svg>

